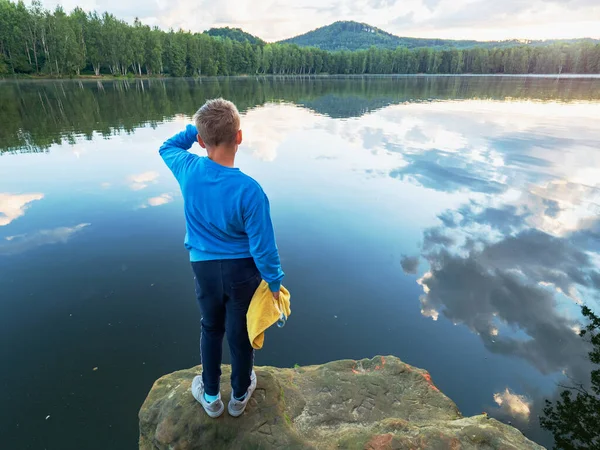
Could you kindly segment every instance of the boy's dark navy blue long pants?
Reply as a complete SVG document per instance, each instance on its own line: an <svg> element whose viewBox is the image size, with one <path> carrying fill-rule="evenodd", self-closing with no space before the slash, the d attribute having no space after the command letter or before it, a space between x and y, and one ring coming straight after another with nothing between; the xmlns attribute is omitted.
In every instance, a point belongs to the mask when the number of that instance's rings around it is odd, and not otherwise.
<svg viewBox="0 0 600 450"><path fill-rule="evenodd" d="M221 379L223 335L231 353L231 387L241 398L250 386L254 350L246 313L261 277L252 258L193 262L196 295L202 312L200 355L208 395L217 395Z"/></svg>

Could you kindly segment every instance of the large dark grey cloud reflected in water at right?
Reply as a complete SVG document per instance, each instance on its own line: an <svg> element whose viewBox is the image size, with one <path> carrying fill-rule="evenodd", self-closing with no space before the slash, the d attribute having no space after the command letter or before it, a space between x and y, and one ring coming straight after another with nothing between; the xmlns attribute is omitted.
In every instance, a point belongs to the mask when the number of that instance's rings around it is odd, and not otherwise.
<svg viewBox="0 0 600 450"><path fill-rule="evenodd" d="M430 269L419 281L423 314L441 312L468 326L491 352L524 358L542 373L567 369L581 378L585 372L575 372L587 352L573 331L576 310L565 314L564 308L581 301L582 289L599 287L592 258L539 230L496 242L482 234L470 233L455 245L425 238L431 250L424 254Z"/></svg>

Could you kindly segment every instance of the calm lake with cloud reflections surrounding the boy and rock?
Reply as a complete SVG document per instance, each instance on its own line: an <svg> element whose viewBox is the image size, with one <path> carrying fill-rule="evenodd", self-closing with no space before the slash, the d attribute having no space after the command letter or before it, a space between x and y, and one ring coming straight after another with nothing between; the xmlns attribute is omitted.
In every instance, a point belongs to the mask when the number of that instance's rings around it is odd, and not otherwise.
<svg viewBox="0 0 600 450"><path fill-rule="evenodd" d="M551 445L537 416L589 380L579 304L600 309L597 78L0 82L3 445L137 448L152 383L199 364L158 148L218 96L292 292L256 363L396 355Z"/></svg>

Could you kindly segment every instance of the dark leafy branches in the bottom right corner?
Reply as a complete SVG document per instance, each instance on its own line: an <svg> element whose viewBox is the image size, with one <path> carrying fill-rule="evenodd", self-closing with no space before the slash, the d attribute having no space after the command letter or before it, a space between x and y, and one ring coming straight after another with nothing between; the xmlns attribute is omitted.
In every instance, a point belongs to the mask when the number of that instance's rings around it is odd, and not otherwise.
<svg viewBox="0 0 600 450"><path fill-rule="evenodd" d="M582 312L590 323L580 335L592 345L590 361L600 365L600 317L587 306L582 307ZM600 449L600 367L592 371L590 385L590 388L583 384L565 386L559 400L546 401L540 424L552 432L556 448Z"/></svg>

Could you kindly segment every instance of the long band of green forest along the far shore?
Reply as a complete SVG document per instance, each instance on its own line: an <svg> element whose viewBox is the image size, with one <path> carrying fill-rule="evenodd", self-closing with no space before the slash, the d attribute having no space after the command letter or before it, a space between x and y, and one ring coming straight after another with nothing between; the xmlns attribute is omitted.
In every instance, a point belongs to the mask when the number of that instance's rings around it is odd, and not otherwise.
<svg viewBox="0 0 600 450"><path fill-rule="evenodd" d="M213 33L214 34L214 33ZM295 44L239 42L75 8L0 0L0 75L196 77L309 74L600 73L600 44L545 47L326 51Z"/></svg>

